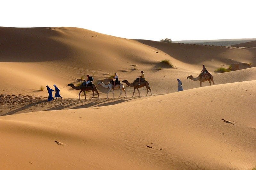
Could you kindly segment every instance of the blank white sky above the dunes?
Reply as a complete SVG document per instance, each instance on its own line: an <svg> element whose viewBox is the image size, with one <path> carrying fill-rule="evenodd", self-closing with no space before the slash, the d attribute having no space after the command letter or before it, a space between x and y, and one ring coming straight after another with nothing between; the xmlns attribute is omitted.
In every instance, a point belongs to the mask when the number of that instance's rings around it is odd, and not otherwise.
<svg viewBox="0 0 256 170"><path fill-rule="evenodd" d="M70 26L153 41L256 38L254 0L4 0L0 5L5 27Z"/></svg>

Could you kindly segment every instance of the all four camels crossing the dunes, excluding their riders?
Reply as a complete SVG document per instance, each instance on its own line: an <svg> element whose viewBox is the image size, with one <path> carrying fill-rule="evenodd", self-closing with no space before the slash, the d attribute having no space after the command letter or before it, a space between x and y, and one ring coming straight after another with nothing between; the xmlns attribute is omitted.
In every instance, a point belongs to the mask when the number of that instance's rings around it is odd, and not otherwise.
<svg viewBox="0 0 256 170"><path fill-rule="evenodd" d="M196 77L196 78L194 78L193 76L190 75L190 76L187 77L187 79L191 79L191 80L193 80L193 81L199 81L199 82L200 82L200 87L202 87L202 82L204 82L204 81L209 81L210 85L211 85L211 81L212 81L212 83L213 83L213 85L214 85L213 77L212 77L211 74L209 74L209 75L206 76L206 77L204 77L204 76L202 76L202 75L200 74L200 75L199 75L198 77ZM138 90L139 96L140 96L140 91L139 91L138 88L141 88L141 87L144 87L144 86L145 86L146 89L147 89L147 94L146 94L146 96L148 95L148 90L150 90L150 93L151 93L151 95L152 95L151 88L150 88L150 86L149 86L149 83L148 83L146 80L144 80L143 82L141 82L140 85L138 85L139 82L136 81L136 80L134 80L132 83L129 83L128 80L123 80L122 82L125 83L125 84L127 84L127 85L130 86L130 87L134 87L134 91L133 91L132 97L134 96L134 93L135 93L135 90L136 90L136 89ZM101 86L103 86L104 88L108 88L108 89L109 89L108 92L107 92L107 99L108 99L108 93L111 92L111 91L112 91L112 93L113 93L113 97L115 97L113 90L118 90L118 89L120 90L120 95L119 95L119 97L121 96L122 91L125 92L125 97L127 97L126 91L125 91L125 89L124 89L124 85L123 85L122 83L121 83L120 85L115 85L114 88L112 88L113 85L112 85L111 83L105 85L103 82L99 82L99 83L97 83L97 85L101 85ZM88 86L86 87L86 86L83 85L83 83L82 83L81 85L79 85L79 86L75 86L74 84L71 83L71 84L68 84L68 86L72 87L72 88L75 89L75 90L80 90L80 92L79 92L79 94L78 94L78 100L80 100L80 93L81 93L81 92L84 92L85 99L86 99L85 91L89 91L89 90L91 90L91 91L93 92L93 97L94 97L94 92L96 92L96 93L98 94L98 99L100 98L100 97L99 97L99 91L98 91L96 85L94 85L94 84L92 84L92 85L90 85L90 86L88 85ZM92 98L93 98L93 97L92 97ZM118 97L118 98L119 98L119 97ZM91 99L92 99L92 98L91 98Z"/></svg>

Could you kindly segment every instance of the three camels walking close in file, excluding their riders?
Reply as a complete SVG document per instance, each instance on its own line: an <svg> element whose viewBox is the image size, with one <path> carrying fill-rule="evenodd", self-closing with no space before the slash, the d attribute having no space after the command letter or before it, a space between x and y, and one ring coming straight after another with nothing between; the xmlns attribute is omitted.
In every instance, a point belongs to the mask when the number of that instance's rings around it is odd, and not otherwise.
<svg viewBox="0 0 256 170"><path fill-rule="evenodd" d="M151 93L151 95L152 95L151 88L150 88L150 86L149 86L149 83L148 83L146 80L142 81L142 82L140 83L140 85L138 85L139 82L136 81L136 80L134 80L133 83L129 83L128 80L123 80L122 82L125 83L125 84L127 84L127 85L130 86L130 87L134 87L134 91L133 91L132 97L134 96L134 93L135 93L135 90L136 90L136 89L138 90L139 96L140 96L140 91L139 91L138 88L141 88L141 87L144 87L144 86L145 86L146 89L147 89L147 94L146 94L146 95L148 95L148 90L150 90L150 93ZM113 85L112 85L111 83L105 85L103 82L99 82L99 83L97 83L97 85L101 85L101 86L103 86L103 87L109 89L108 92L107 92L107 99L108 99L108 93L111 92L111 91L112 91L112 93L113 93L113 97L115 97L113 90L118 90L118 89L120 90L120 95L119 95L119 97L121 96L122 91L125 92L125 97L127 97L126 91L125 91L125 89L124 89L124 85L123 85L122 83L120 83L120 85L115 85L114 88L112 88ZM94 85L94 84L88 85L88 86L86 87L85 85L83 85L83 83L80 84L79 86L75 86L74 84L71 83L71 84L68 84L68 86L72 87L72 88L75 89L75 90L80 90L80 92L79 92L79 94L78 94L78 100L80 100L80 93L81 93L81 92L84 92L85 99L86 99L85 91L89 91L89 90L91 90L91 91L93 92L93 97L94 97L94 92L96 92L96 93L98 94L98 99L100 98L100 97L99 97L99 91L98 91L96 85ZM93 97L92 97L92 98L93 98ZM118 98L119 98L119 97L118 97ZM92 98L91 98L91 99L92 99Z"/></svg>

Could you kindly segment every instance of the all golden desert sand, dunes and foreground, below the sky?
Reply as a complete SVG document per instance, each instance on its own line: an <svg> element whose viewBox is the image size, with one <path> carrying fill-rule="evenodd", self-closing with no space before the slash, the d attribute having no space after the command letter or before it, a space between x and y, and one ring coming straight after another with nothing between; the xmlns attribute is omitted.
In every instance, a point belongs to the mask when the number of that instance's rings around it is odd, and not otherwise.
<svg viewBox="0 0 256 170"><path fill-rule="evenodd" d="M130 40L74 27L0 27L0 169L253 169L256 41L231 46ZM172 67L161 63L169 60ZM215 72L239 63L240 69ZM204 64L215 85L197 77ZM97 82L145 72L153 96ZM179 78L184 91L177 92ZM47 101L46 85L63 99ZM40 90L43 87L44 90ZM55 92L53 92L53 95Z"/></svg>

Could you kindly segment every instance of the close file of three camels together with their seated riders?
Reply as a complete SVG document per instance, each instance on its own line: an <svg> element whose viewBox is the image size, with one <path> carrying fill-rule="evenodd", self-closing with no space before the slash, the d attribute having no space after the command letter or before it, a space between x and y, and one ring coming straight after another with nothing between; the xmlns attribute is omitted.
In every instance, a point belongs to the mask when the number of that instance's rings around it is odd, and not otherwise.
<svg viewBox="0 0 256 170"><path fill-rule="evenodd" d="M115 80L115 81L114 81ZM87 80L85 80L82 84L80 84L79 86L75 86L73 83L71 84L68 84L68 86L72 87L73 89L75 90L80 90L80 92L78 93L78 100L80 100L80 93L81 92L84 92L84 95L85 95L85 100L86 100L86 93L85 91L92 91L93 92L93 96L92 98L94 97L95 95L95 92L98 94L98 99L100 98L99 97L99 91L96 87L96 85L93 84L93 77L91 77L90 75L87 75ZM152 92L151 92L151 88L149 86L149 83L145 80L144 78L144 71L141 71L141 76L138 76L136 78L136 80L133 81L133 83L129 83L128 80L123 80L122 81L123 83L127 84L128 86L130 87L134 87L134 91L133 91L133 95L132 97L134 96L134 93L135 93L135 90L137 89L137 91L139 92L139 96L140 96L140 91L138 88L142 88L142 87L146 87L147 89L147 94L146 96L148 95L148 90L150 90L150 93L152 95ZM125 88L124 88L124 85L122 83L120 83L120 81L118 80L118 76L117 76L117 73L115 73L115 77L110 81L109 84L105 85L103 82L98 82L97 85L101 85L103 86L104 88L108 88L108 92L107 92L107 99L108 99L108 93L112 91L113 93L113 98L115 98L114 96L114 90L120 90L120 95L119 97L121 96L122 94L122 91L125 92L125 97L127 97L126 95L126 91L125 91ZM118 97L118 98L119 98ZM91 99L92 99L91 98Z"/></svg>

